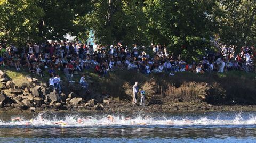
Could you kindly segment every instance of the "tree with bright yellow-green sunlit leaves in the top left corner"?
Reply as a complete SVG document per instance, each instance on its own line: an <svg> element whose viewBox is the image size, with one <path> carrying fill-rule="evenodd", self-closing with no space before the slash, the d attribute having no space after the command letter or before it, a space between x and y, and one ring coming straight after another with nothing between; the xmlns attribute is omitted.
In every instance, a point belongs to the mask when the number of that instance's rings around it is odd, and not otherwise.
<svg viewBox="0 0 256 143"><path fill-rule="evenodd" d="M1 41L21 45L39 39L37 24L44 13L33 0L1 0L0 13Z"/></svg>

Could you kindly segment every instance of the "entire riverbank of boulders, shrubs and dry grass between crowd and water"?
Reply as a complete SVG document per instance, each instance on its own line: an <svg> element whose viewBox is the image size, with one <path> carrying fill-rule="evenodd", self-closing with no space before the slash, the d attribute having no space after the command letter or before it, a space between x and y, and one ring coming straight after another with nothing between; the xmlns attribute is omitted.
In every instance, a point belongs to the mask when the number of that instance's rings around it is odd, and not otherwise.
<svg viewBox="0 0 256 143"><path fill-rule="evenodd" d="M256 103L253 73L145 75L115 71L99 78L86 75L90 92L78 82L61 82L62 93L51 92L45 82L0 71L2 110L105 110L105 111L220 111L254 110ZM146 107L133 107L132 86L146 91ZM138 96L138 101L140 96ZM234 106L236 105L236 106ZM249 106L245 106L249 105Z"/></svg>

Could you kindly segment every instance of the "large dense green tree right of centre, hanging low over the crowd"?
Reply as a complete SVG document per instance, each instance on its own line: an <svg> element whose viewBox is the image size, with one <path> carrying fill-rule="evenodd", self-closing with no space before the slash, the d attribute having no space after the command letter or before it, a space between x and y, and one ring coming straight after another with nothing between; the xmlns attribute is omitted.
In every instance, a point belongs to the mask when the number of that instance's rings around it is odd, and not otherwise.
<svg viewBox="0 0 256 143"><path fill-rule="evenodd" d="M146 0L149 36L155 44L169 45L175 54L204 54L210 36L218 31L217 3L196 0Z"/></svg>

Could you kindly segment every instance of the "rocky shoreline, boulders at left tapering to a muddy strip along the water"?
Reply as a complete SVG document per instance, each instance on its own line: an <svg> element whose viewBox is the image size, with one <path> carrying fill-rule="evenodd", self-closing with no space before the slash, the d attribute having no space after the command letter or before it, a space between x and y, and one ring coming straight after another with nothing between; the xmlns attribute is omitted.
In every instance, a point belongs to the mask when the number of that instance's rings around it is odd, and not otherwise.
<svg viewBox="0 0 256 143"><path fill-rule="evenodd" d="M86 77L90 80L90 77ZM103 112L211 112L256 111L256 105L211 105L203 101L150 103L133 106L129 100L119 100L98 92L87 92L79 84L62 83L62 93L51 92L45 83L25 77L29 83L18 86L0 70L0 111L103 111ZM91 81L92 82L92 81ZM147 102L147 100L146 100Z"/></svg>

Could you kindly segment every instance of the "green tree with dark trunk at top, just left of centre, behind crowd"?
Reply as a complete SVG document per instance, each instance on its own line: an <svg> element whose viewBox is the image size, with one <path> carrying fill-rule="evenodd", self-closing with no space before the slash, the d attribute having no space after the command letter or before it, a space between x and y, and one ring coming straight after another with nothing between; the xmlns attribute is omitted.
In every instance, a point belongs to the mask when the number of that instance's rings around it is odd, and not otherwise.
<svg viewBox="0 0 256 143"><path fill-rule="evenodd" d="M90 23L97 43L147 43L143 1L99 0L85 18Z"/></svg>

